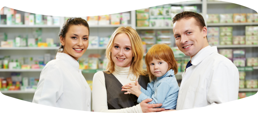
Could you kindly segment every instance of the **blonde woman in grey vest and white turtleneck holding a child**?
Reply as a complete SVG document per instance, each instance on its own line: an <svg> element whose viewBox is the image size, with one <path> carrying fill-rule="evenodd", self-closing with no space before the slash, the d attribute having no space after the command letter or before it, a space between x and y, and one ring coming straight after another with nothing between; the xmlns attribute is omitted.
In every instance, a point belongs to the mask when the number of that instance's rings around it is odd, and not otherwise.
<svg viewBox="0 0 258 113"><path fill-rule="evenodd" d="M137 103L137 96L125 95L122 86L135 82L146 89L150 82L143 70L143 46L137 32L131 27L119 27L112 34L106 49L106 71L94 74L92 104L94 112L142 113L157 112L162 104L147 104L152 99Z"/></svg>

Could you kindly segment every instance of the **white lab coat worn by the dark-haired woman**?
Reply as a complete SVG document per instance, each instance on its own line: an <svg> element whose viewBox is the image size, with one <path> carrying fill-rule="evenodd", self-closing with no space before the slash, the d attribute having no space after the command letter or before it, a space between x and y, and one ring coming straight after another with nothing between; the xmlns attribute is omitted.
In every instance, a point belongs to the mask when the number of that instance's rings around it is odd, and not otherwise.
<svg viewBox="0 0 258 113"><path fill-rule="evenodd" d="M92 111L91 90L79 63L65 53L57 53L40 73L33 103L71 110Z"/></svg>

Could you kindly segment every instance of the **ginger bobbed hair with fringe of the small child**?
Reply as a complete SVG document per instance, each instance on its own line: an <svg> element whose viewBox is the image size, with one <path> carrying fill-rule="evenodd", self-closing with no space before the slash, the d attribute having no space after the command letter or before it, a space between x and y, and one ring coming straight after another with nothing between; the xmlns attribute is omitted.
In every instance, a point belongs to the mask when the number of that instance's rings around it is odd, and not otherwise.
<svg viewBox="0 0 258 113"><path fill-rule="evenodd" d="M172 49L166 44L156 44L149 49L148 53L145 56L147 72L152 80L156 78L156 76L154 76L150 71L149 63L153 60L153 58L156 60L164 60L165 62L168 63L168 70L173 69L174 74L177 73L177 62L175 60Z"/></svg>

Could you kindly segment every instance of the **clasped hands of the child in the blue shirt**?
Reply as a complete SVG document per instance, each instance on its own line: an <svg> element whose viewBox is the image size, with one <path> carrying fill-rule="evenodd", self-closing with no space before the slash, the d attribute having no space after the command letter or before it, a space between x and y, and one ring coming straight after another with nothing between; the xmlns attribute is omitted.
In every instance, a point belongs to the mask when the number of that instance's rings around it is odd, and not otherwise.
<svg viewBox="0 0 258 113"><path fill-rule="evenodd" d="M141 94L141 90L139 90L139 87L141 87L138 83L138 81L136 80L136 85L125 85L127 87L130 87L130 88L123 88L122 91L127 91L125 92L125 94L134 94L135 96L139 97L140 94Z"/></svg>

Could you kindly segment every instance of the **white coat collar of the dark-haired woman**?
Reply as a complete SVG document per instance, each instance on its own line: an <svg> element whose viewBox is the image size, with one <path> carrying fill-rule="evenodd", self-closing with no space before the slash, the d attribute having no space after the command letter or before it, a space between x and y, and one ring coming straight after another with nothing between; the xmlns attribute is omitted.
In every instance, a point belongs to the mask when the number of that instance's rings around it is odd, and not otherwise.
<svg viewBox="0 0 258 113"><path fill-rule="evenodd" d="M56 59L65 61L67 64L71 65L75 69L79 69L79 63L73 57L66 53L57 53Z"/></svg>

